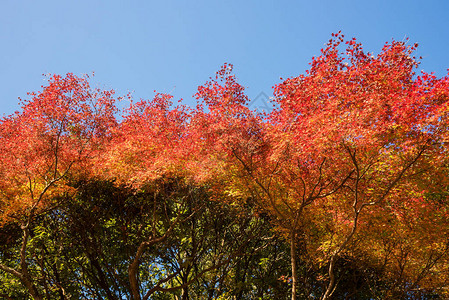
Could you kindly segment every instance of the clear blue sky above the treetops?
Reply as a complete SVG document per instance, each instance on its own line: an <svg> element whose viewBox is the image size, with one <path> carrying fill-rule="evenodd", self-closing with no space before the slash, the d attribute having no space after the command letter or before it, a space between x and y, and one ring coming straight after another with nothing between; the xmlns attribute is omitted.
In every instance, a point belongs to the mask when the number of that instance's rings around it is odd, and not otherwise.
<svg viewBox="0 0 449 300"><path fill-rule="evenodd" d="M447 74L449 1L0 1L0 115L38 91L42 74L95 72L95 85L195 103L225 63L255 98L308 68L332 32L378 53L419 43L421 69Z"/></svg>

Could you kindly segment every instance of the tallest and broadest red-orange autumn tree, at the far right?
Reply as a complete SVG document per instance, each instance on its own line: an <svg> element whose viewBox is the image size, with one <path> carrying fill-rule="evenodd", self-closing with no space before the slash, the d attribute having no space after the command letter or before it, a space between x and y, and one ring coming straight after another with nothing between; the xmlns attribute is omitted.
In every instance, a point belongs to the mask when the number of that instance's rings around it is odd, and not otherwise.
<svg viewBox="0 0 449 300"><path fill-rule="evenodd" d="M417 45L393 41L374 56L355 39L341 53L343 42L334 35L306 74L276 86L268 129L276 168L263 184L264 203L288 212L290 232L300 230L306 247L323 255L322 299L336 289L341 255L365 230L383 230L373 214L386 225L383 210L423 196L426 187L414 182L431 175L428 165L444 166L446 152L448 78L415 76Z"/></svg>

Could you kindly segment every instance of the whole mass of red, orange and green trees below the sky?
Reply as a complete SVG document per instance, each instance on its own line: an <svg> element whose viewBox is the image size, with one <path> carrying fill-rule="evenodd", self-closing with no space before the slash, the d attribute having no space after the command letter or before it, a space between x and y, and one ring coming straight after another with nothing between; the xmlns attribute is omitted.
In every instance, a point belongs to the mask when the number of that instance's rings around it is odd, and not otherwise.
<svg viewBox="0 0 449 300"><path fill-rule="evenodd" d="M270 114L229 64L196 108L50 77L0 123L0 296L447 297L449 77L416 47L333 34Z"/></svg>

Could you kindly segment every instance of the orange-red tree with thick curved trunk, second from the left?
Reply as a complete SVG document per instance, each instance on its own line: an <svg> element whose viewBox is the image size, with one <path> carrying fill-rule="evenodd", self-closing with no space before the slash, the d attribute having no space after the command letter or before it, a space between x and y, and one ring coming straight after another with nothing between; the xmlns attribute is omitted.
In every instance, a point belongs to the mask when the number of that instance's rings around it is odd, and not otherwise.
<svg viewBox="0 0 449 300"><path fill-rule="evenodd" d="M100 160L100 176L118 180L135 187L147 186L163 178L182 176L182 143L185 142L184 131L188 114L183 106L171 109L171 96L157 94L152 101L141 100L131 103L123 116L123 121L113 134L105 156ZM159 189L158 185L155 187ZM181 197L178 205L187 204L188 197ZM178 214L168 222L170 226L159 230L158 205L154 199L151 234L140 242L135 257L129 265L129 281L133 299L148 299L156 288L141 297L138 274L142 256L155 244L164 242L178 223L188 216ZM182 211L182 209L181 209ZM191 212L194 214L195 212ZM143 225L143 224L142 224Z"/></svg>

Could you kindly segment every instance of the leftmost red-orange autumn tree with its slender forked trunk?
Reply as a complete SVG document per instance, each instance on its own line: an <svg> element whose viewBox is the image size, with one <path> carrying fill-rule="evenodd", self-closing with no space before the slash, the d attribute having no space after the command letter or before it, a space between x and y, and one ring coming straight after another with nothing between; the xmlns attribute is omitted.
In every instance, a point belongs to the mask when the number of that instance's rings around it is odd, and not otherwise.
<svg viewBox="0 0 449 300"><path fill-rule="evenodd" d="M115 126L114 92L91 89L73 74L52 76L22 109L0 124L0 220L22 230L17 264L0 269L18 278L35 299L42 299L28 270L30 226L50 209L56 195L70 193L67 180L90 169L109 128Z"/></svg>

